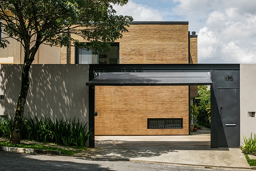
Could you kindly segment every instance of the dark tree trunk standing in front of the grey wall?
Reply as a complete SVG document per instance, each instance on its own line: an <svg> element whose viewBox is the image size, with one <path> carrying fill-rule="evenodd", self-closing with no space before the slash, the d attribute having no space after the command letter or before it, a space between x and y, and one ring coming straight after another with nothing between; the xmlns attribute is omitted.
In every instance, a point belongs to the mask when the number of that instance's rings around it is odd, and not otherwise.
<svg viewBox="0 0 256 171"><path fill-rule="evenodd" d="M12 135L11 135L11 144L17 144L20 143L20 129L23 122L23 111L26 103L26 97L29 91L29 69L30 69L31 63L27 64L25 63L22 68L22 79L21 79L21 88L20 88L20 94L19 99L17 103L17 108L15 112L15 118L14 118L14 125L12 128Z"/></svg>

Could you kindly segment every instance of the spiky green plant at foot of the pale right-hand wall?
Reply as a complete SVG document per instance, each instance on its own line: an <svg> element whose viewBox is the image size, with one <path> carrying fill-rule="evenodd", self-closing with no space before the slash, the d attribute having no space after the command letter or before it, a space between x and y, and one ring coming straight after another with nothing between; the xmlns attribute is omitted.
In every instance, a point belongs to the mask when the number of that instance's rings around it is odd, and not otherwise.
<svg viewBox="0 0 256 171"><path fill-rule="evenodd" d="M256 135L254 134L254 138L251 136L247 139L244 137L244 144L241 146L241 151L244 154L251 154L256 156Z"/></svg>

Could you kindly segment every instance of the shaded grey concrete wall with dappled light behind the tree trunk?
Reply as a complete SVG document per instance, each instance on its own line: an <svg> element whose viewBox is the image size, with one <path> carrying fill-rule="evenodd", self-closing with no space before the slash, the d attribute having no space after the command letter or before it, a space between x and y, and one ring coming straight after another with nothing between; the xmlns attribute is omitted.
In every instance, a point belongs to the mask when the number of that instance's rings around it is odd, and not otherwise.
<svg viewBox="0 0 256 171"><path fill-rule="evenodd" d="M0 115L12 117L20 92L22 65L0 65ZM24 116L88 121L89 65L32 65Z"/></svg>

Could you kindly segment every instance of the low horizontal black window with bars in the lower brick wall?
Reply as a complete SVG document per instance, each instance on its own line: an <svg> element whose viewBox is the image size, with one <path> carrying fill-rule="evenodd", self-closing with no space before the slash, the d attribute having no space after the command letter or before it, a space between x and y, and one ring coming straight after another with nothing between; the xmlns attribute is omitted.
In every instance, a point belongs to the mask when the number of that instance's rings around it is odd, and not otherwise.
<svg viewBox="0 0 256 171"><path fill-rule="evenodd" d="M183 118L148 118L148 129L182 129Z"/></svg>

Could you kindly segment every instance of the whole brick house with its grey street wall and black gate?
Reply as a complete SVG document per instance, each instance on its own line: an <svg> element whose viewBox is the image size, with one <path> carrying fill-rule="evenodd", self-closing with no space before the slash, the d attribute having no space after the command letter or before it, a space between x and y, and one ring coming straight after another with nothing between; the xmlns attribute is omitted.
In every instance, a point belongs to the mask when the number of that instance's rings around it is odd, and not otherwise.
<svg viewBox="0 0 256 171"><path fill-rule="evenodd" d="M256 133L256 65L196 64L188 22L135 22L112 46L99 55L42 46L35 63L48 54L58 62L32 65L25 115L79 117L95 135L188 135L194 85L211 85L211 147L237 147ZM15 42L0 49L0 115L15 113L22 53Z"/></svg>

